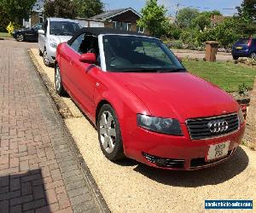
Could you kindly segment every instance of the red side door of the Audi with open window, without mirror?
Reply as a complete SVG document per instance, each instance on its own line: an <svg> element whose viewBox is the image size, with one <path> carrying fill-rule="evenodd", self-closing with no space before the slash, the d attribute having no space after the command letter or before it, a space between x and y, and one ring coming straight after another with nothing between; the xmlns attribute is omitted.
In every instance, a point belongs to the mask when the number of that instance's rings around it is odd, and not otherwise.
<svg viewBox="0 0 256 213"><path fill-rule="evenodd" d="M92 51L98 55L98 42L97 37L84 36L81 45L77 51L73 49L70 53L70 63L68 77L73 84L74 98L79 103L80 107L88 112L88 116L92 118L92 114L95 111L94 92L96 88L96 79L94 78L94 72L98 71L96 65L81 62L79 60L80 55Z"/></svg>

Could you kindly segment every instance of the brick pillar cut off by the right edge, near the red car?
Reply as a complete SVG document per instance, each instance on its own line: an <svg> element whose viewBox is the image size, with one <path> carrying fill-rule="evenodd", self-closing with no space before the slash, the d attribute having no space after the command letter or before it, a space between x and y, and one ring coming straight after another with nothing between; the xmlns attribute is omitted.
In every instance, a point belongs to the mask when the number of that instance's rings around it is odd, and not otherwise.
<svg viewBox="0 0 256 213"><path fill-rule="evenodd" d="M248 107L247 112L247 130L245 134L245 141L249 147L256 149L256 78L254 80L250 107Z"/></svg>

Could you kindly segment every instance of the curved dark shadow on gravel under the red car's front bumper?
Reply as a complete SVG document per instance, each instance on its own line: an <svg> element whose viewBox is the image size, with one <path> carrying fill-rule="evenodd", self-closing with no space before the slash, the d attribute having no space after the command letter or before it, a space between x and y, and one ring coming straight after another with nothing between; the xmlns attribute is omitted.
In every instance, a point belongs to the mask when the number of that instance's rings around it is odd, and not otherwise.
<svg viewBox="0 0 256 213"><path fill-rule="evenodd" d="M227 161L216 166L193 171L158 170L144 164L134 169L143 176L173 187L201 187L229 181L247 168L249 158L241 147Z"/></svg>

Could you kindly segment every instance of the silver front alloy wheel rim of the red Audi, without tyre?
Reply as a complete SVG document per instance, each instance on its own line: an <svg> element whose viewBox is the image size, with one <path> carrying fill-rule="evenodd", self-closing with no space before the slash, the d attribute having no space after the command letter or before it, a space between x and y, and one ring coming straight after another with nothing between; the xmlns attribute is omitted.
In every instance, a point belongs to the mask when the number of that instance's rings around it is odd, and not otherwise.
<svg viewBox="0 0 256 213"><path fill-rule="evenodd" d="M104 111L100 120L100 140L102 147L107 153L113 153L116 140L116 130L113 116L110 112Z"/></svg>

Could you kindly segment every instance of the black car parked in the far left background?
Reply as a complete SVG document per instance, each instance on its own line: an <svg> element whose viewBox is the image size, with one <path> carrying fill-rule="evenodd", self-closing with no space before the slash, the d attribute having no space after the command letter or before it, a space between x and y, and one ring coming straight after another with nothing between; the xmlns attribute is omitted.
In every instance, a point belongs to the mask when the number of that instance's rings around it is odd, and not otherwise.
<svg viewBox="0 0 256 213"><path fill-rule="evenodd" d="M13 37L15 37L18 42L38 41L38 30L41 28L42 24L39 23L29 28L15 30Z"/></svg>

